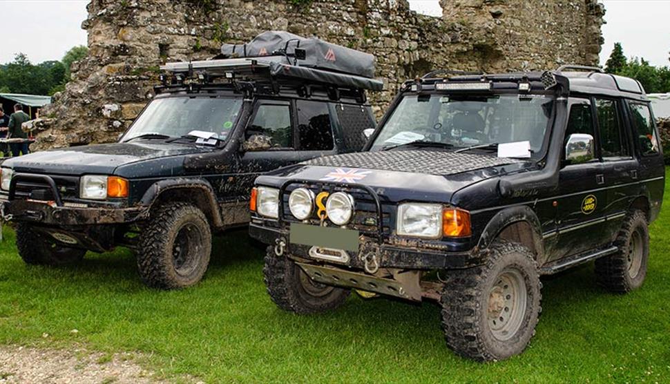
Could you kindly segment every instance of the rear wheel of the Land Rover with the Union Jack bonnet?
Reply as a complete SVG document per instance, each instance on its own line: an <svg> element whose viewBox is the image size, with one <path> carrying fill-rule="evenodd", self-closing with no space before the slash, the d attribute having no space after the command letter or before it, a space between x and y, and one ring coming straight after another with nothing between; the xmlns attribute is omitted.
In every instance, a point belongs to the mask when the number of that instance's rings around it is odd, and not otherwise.
<svg viewBox="0 0 670 384"><path fill-rule="evenodd" d="M595 278L608 291L626 294L641 287L647 277L649 224L644 212L629 213L614 245L616 253L595 260Z"/></svg>

